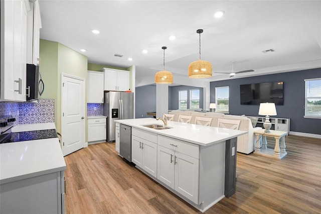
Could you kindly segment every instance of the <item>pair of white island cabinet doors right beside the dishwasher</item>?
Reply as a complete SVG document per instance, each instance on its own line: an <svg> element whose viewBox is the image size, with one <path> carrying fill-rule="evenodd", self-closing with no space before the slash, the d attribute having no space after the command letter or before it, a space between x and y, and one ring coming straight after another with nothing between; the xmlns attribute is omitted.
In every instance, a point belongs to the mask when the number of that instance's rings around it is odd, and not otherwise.
<svg viewBox="0 0 321 214"><path fill-rule="evenodd" d="M131 136L131 161L153 177L157 176L157 144Z"/></svg>

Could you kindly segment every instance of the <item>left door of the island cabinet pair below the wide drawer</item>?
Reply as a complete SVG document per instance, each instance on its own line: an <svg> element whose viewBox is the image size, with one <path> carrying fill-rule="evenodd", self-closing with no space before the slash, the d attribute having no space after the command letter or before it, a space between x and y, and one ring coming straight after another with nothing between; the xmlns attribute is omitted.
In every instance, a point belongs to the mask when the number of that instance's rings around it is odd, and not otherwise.
<svg viewBox="0 0 321 214"><path fill-rule="evenodd" d="M157 146L157 179L174 189L174 151Z"/></svg>

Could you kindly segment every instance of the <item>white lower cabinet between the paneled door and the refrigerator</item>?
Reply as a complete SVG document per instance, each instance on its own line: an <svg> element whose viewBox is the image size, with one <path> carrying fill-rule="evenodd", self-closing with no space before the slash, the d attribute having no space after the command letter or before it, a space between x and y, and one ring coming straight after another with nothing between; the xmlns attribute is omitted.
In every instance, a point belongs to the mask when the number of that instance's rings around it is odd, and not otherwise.
<svg viewBox="0 0 321 214"><path fill-rule="evenodd" d="M88 143L106 141L106 118L88 119Z"/></svg>

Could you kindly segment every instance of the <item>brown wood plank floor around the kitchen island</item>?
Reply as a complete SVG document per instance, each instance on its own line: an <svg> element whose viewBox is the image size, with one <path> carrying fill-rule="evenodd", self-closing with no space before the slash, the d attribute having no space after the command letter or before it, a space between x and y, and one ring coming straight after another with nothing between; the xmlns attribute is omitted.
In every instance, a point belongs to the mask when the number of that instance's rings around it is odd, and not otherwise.
<svg viewBox="0 0 321 214"><path fill-rule="evenodd" d="M321 139L285 143L281 160L237 153L236 193L205 213L321 213ZM114 143L65 160L66 213L201 213L120 158Z"/></svg>

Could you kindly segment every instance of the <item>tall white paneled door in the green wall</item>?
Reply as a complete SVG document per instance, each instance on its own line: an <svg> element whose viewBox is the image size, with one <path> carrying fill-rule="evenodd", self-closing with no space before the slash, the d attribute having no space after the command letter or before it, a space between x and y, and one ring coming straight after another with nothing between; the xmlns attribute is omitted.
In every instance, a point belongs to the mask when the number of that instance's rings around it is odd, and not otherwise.
<svg viewBox="0 0 321 214"><path fill-rule="evenodd" d="M62 74L61 134L64 156L85 145L85 82Z"/></svg>

